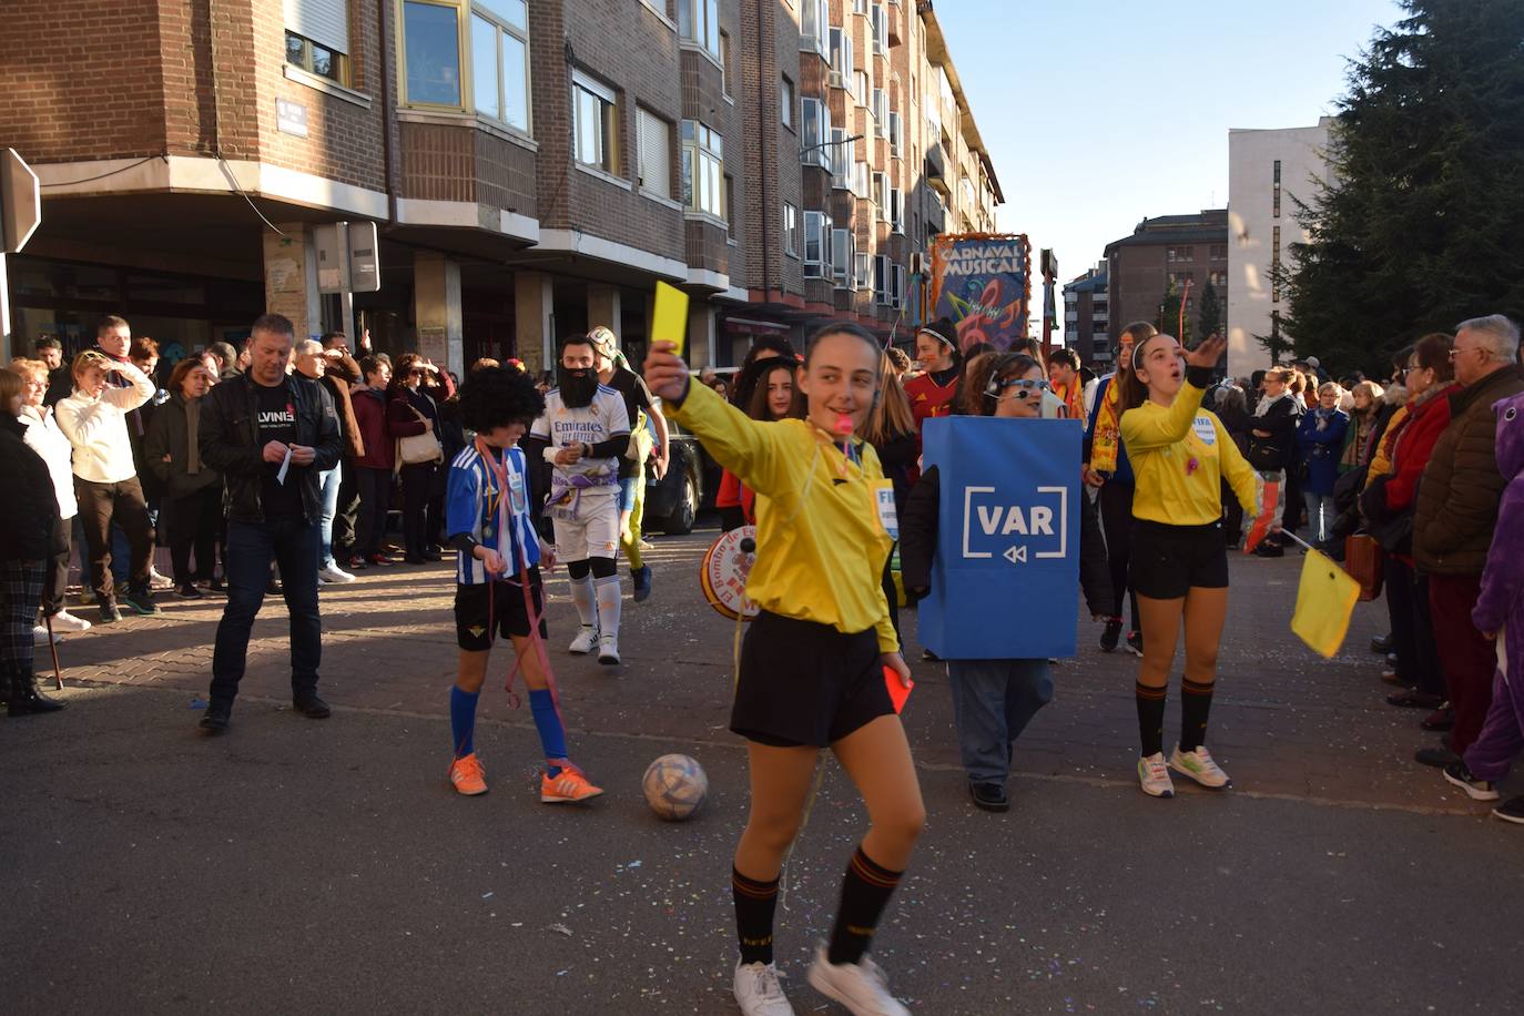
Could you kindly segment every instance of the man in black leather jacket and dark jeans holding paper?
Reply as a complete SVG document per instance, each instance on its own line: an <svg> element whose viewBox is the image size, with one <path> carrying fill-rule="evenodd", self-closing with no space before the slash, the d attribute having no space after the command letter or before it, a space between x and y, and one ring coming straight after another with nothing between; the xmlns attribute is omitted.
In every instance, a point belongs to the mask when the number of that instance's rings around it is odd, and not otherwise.
<svg viewBox="0 0 1524 1016"><path fill-rule="evenodd" d="M227 490L227 608L216 626L210 704L201 727L227 730L248 657L248 634L264 603L270 565L279 562L291 614L291 698L296 710L326 719L317 696L323 655L317 609L319 474L343 452L338 416L315 381L288 373L296 343L291 321L255 321L253 361L203 399L201 462L223 474Z"/></svg>

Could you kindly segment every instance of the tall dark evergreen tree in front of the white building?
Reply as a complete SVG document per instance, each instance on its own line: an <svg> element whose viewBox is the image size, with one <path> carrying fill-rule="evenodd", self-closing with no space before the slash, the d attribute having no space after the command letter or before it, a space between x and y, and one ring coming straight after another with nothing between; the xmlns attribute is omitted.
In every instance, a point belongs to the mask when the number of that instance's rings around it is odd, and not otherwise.
<svg viewBox="0 0 1524 1016"><path fill-rule="evenodd" d="M1524 311L1521 3L1401 3L1350 70L1329 181L1297 203L1285 334L1335 370L1379 375L1425 332Z"/></svg>

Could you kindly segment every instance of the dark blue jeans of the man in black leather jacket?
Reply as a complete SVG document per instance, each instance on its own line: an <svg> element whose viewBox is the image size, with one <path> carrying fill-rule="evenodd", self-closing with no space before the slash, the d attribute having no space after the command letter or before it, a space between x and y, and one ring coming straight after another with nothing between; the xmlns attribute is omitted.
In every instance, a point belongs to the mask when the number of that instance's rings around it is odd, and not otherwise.
<svg viewBox="0 0 1524 1016"><path fill-rule="evenodd" d="M291 614L291 693L317 692L323 628L317 612L317 526L302 516L267 522L227 522L223 567L227 606L212 652L212 702L232 705L248 664L248 634L270 586L270 564L280 565L280 588Z"/></svg>

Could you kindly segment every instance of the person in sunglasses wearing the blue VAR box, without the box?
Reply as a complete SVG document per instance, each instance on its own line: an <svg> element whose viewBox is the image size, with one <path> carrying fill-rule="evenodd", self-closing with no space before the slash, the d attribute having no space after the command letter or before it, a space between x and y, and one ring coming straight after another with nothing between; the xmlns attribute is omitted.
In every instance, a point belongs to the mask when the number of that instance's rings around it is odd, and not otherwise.
<svg viewBox="0 0 1524 1016"><path fill-rule="evenodd" d="M965 416L1038 419L1052 396L1042 364L1026 353L991 353L974 364L963 385ZM942 481L936 466L920 474L901 524L901 568L917 597L931 588L937 550ZM1053 698L1047 660L949 660L952 717L974 806L986 812L1010 807L1006 778L1010 746Z"/></svg>

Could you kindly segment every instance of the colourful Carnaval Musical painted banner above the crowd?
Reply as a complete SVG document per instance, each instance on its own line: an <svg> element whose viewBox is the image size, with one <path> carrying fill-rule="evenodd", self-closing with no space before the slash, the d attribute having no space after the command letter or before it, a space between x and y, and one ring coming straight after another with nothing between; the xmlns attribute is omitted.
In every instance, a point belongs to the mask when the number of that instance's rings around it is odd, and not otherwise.
<svg viewBox="0 0 1524 1016"><path fill-rule="evenodd" d="M931 244L931 317L957 324L959 346L1006 350L1027 334L1032 245L1021 233L943 235Z"/></svg>

